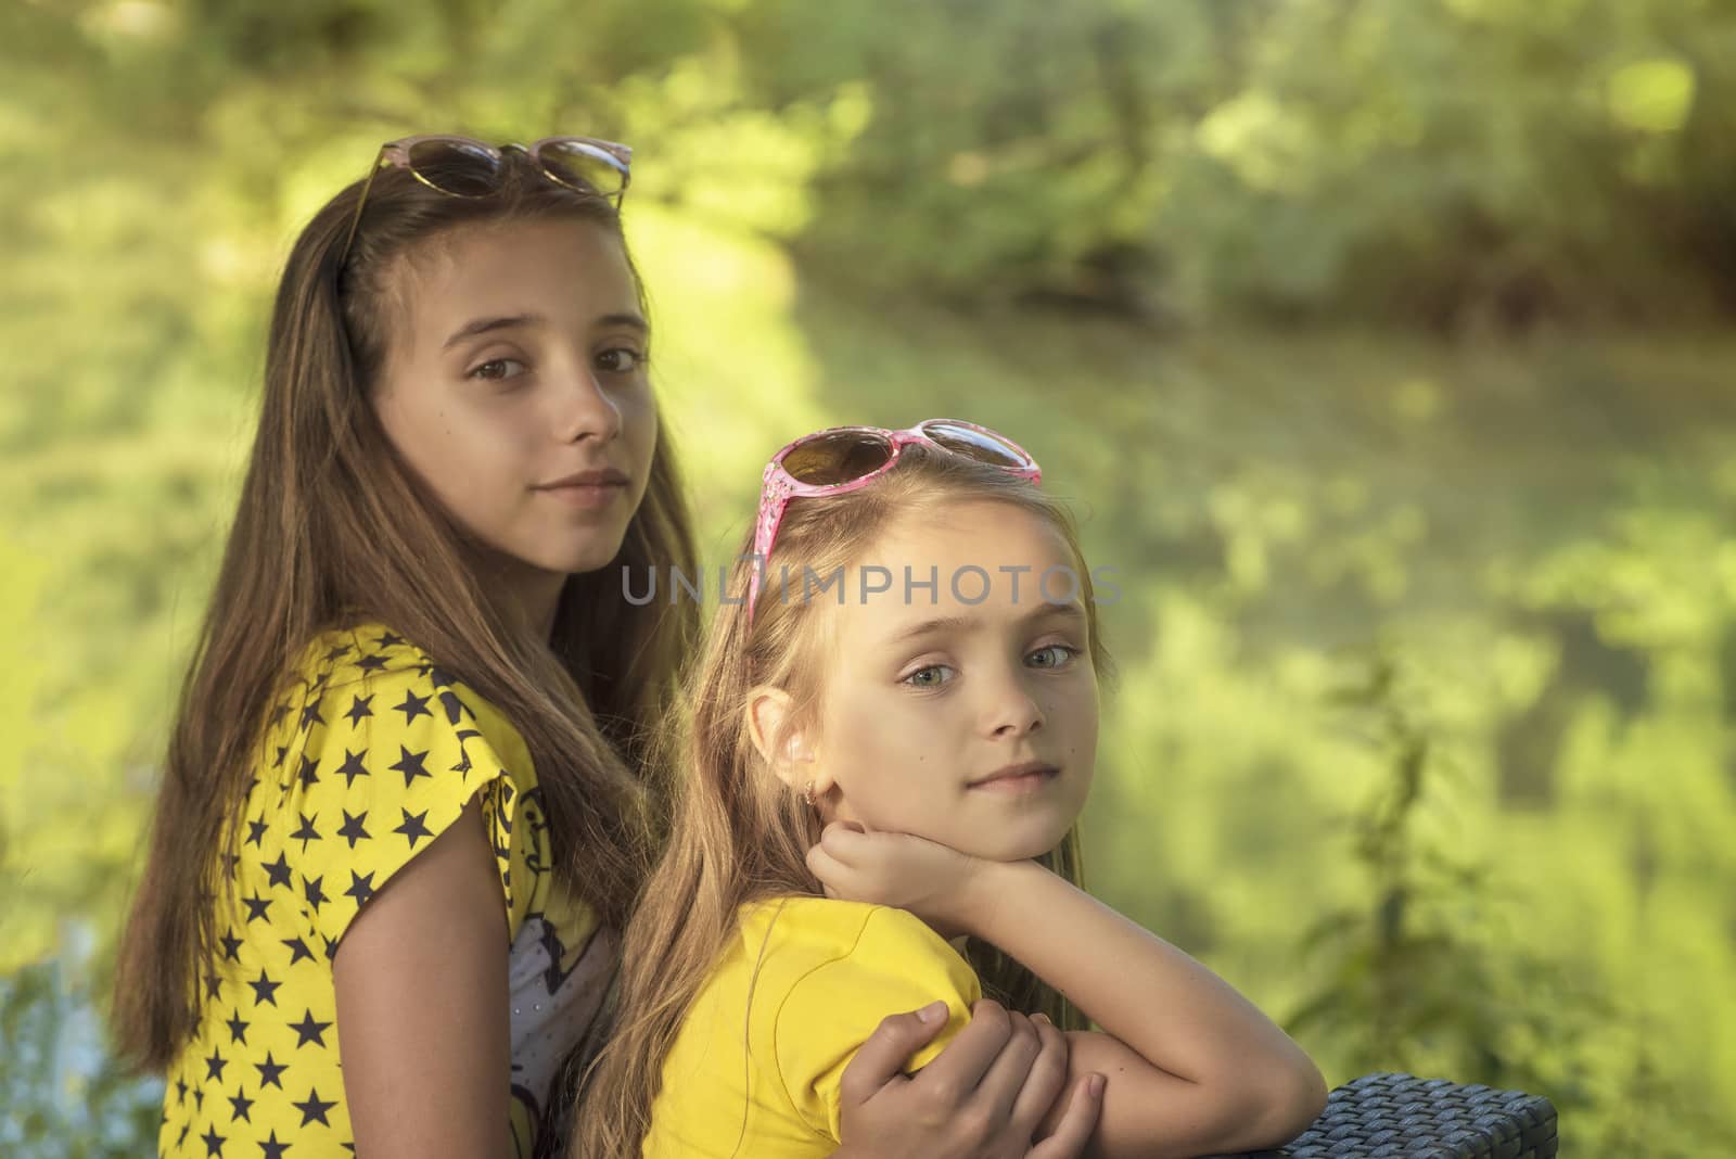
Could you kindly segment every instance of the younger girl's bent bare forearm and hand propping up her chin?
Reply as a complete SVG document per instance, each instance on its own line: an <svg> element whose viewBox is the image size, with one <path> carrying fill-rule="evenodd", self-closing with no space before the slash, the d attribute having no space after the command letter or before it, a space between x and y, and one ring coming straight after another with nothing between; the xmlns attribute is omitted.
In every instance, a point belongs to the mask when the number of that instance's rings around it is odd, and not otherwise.
<svg viewBox="0 0 1736 1159"><path fill-rule="evenodd" d="M993 942L1104 1029L1068 1034L1069 1077L1108 1076L1087 1154L1274 1147L1326 1105L1319 1069L1229 984L1036 862L835 826L809 866L845 897L903 904L943 933Z"/></svg>

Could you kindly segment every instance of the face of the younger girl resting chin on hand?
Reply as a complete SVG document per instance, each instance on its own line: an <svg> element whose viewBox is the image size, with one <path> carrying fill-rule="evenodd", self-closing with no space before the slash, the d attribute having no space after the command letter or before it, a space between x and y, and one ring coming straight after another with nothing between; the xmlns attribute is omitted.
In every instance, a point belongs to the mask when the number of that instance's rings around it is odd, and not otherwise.
<svg viewBox="0 0 1736 1159"><path fill-rule="evenodd" d="M892 586L863 602L875 566ZM1080 597L1050 604L1038 588L1049 567L1066 569L1049 583L1059 600L1078 564L1055 527L972 501L896 521L847 571L844 607L826 607L814 746L833 817L993 861L1061 843L1097 758L1097 677ZM906 600L906 574L934 574L932 602L925 586ZM885 581L866 578L870 592ZM1021 767L1036 770L1009 776Z"/></svg>

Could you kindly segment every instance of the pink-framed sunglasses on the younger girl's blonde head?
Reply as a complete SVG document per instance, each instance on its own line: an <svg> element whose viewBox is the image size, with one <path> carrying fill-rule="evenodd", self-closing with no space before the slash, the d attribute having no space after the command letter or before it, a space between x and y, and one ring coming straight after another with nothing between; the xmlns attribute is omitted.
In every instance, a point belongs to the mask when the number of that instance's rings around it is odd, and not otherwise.
<svg viewBox="0 0 1736 1159"><path fill-rule="evenodd" d="M760 573L771 559L790 500L859 491L892 470L899 453L913 442L1000 467L1031 482L1043 479L1042 467L1023 446L962 418L929 418L910 430L830 427L802 435L773 455L760 479L760 512L759 522L753 524L757 566L748 578L750 625L753 606L759 602Z"/></svg>

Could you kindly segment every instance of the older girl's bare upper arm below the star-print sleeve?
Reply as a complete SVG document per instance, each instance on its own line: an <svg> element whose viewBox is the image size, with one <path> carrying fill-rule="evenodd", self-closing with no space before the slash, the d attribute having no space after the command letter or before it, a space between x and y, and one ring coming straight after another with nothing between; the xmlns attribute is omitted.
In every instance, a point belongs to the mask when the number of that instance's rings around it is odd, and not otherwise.
<svg viewBox="0 0 1736 1159"><path fill-rule="evenodd" d="M502 1154L507 920L474 800L354 918L332 973L356 1154Z"/></svg>

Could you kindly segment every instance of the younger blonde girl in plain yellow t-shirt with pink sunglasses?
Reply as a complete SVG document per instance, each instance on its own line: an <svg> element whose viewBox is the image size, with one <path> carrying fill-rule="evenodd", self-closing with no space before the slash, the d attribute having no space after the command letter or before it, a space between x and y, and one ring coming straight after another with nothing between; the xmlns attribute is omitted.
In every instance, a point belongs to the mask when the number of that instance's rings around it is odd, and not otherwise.
<svg viewBox="0 0 1736 1159"><path fill-rule="evenodd" d="M944 1041L984 991L1040 1036L1102 1027L1066 1034L1075 1097L1106 1079L1088 1154L1279 1145L1319 1114L1293 1041L1078 887L1104 654L1036 479L951 420L819 432L767 467L575 1156L830 1154L878 1020L932 1001ZM1024 1109L1035 1138L1068 1103Z"/></svg>

